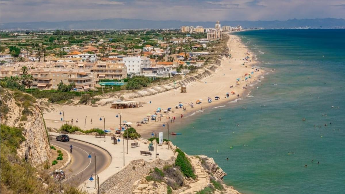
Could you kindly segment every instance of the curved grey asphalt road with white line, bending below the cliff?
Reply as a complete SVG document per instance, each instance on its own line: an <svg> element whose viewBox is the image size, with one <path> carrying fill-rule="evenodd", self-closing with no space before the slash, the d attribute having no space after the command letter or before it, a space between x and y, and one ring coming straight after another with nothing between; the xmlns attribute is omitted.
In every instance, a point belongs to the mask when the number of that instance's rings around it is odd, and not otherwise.
<svg viewBox="0 0 345 194"><path fill-rule="evenodd" d="M74 139L70 139L69 142L58 142L56 136L52 136L50 143L65 149L67 152L70 150L69 146L73 146L73 153L70 154L71 162L64 170L66 178L62 182L65 183L80 185L95 173L95 155L91 154L92 157L88 158L90 152L97 155L97 174L106 169L111 162L110 155L104 149L92 144Z"/></svg>

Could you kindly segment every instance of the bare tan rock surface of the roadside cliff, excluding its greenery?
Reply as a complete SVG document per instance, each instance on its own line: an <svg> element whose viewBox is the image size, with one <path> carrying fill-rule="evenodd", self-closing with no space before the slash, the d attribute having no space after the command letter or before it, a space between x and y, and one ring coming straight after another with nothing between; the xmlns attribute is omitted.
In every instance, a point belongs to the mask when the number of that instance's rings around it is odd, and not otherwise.
<svg viewBox="0 0 345 194"><path fill-rule="evenodd" d="M21 102L13 98L11 91L6 92L9 98L4 100L1 95L1 102L7 105L9 111L6 117L1 118L1 124L23 128L22 134L26 141L22 142L17 153L20 158L25 158L32 166L36 167L51 156L48 134L41 114L41 105L38 102L30 106L32 115L27 116L27 120L20 121L23 110Z"/></svg>

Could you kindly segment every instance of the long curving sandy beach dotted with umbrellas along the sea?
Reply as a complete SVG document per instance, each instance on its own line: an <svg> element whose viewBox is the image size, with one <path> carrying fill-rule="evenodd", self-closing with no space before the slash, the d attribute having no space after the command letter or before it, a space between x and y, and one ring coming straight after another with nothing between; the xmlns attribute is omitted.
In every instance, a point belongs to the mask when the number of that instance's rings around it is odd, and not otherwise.
<svg viewBox="0 0 345 194"><path fill-rule="evenodd" d="M240 39L232 34L229 34L229 40L227 46L231 58L227 59L223 57L221 59L221 65L213 72L210 77L195 81L194 83L187 85L187 93L180 93L180 88L165 91L163 93L134 98L130 100L146 102L143 107L129 108L129 109L111 109L110 104L105 106L92 107L87 105L51 105L53 110L50 112L45 111L43 116L46 120L47 127L59 128L62 125L60 111L65 112L65 120L73 119L73 125L79 126L81 129L90 128L104 128L103 120L99 118L104 116L106 118L106 129L119 128L120 118L116 117L117 114L121 114L121 121L131 122L134 128L143 136L148 137L152 131L161 132L164 131L166 136L166 127L163 128L164 123L169 123L169 132L174 131L174 123L184 123L186 120L192 119L198 114L202 114L203 111L210 109L211 107L220 106L221 104L233 101L236 98L243 98L244 93L248 92L252 87L250 84L254 84L260 79L263 74L263 70L254 72L252 78L245 81L245 74L251 74L255 65L254 57L252 53L240 42ZM248 56L248 61L243 60ZM243 65L244 64L244 65ZM188 77L188 75L187 75ZM236 85L236 79L240 78L240 85ZM233 88L230 88L233 86ZM231 95L231 91L236 94ZM226 93L230 93L226 98ZM237 95L239 95L237 97ZM215 100L215 97L219 96L219 100ZM212 99L211 103L207 102L207 98ZM196 104L196 100L202 99L201 104ZM151 103L148 103L151 101ZM184 104L186 110L182 108L176 109L179 103ZM193 108L190 104L193 103ZM148 114L156 114L156 109L160 107L162 110L172 108L174 113L162 114L163 116L157 120L150 120L147 124L141 124L137 126L137 122L148 116ZM194 114L196 113L196 114ZM181 118L181 115L183 117ZM174 123L171 123L171 118L176 118ZM78 119L78 123L76 120ZM90 122L92 119L92 124ZM159 121L158 121L159 120ZM176 128L175 128L176 130Z"/></svg>

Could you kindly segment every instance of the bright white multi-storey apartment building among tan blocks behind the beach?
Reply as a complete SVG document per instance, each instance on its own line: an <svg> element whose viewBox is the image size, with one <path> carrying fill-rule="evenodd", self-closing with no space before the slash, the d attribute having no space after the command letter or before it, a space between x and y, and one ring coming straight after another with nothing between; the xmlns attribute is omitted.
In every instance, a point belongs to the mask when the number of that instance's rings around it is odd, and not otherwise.
<svg viewBox="0 0 345 194"><path fill-rule="evenodd" d="M128 74L140 74L142 68L150 67L150 59L147 57L133 56L122 58Z"/></svg>

